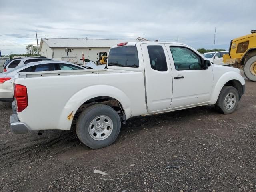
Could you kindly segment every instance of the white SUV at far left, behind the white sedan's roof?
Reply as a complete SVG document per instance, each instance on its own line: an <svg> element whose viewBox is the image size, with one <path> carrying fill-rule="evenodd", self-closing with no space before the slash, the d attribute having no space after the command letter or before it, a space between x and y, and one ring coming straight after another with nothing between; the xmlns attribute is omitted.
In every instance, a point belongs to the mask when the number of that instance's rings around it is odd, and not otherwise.
<svg viewBox="0 0 256 192"><path fill-rule="evenodd" d="M29 64L32 62L39 62L39 61L52 61L51 58L46 57L17 57L14 59L7 60L4 63L4 72L13 70L14 68L20 68L24 66L25 64Z"/></svg>

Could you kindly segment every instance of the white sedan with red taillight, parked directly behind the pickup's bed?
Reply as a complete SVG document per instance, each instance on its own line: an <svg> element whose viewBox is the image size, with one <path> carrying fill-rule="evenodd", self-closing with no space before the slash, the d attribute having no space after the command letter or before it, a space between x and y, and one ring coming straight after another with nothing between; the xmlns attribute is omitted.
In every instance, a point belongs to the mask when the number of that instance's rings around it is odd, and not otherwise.
<svg viewBox="0 0 256 192"><path fill-rule="evenodd" d="M61 61L43 61L24 64L23 67L0 73L0 101L13 101L13 82L15 74L19 72L78 70L86 69L82 66Z"/></svg>

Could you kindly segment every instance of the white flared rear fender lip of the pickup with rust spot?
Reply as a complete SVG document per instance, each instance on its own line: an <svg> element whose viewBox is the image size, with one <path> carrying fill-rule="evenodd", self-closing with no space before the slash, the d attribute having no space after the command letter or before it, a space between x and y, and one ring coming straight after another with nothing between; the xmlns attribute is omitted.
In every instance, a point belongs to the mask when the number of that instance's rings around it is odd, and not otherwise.
<svg viewBox="0 0 256 192"><path fill-rule="evenodd" d="M126 116L130 116L130 114L132 114L130 99L120 89L109 85L89 86L76 92L66 102L58 121L58 129L70 130L72 120L78 108L84 104L84 102L100 96L112 97L118 100L122 105Z"/></svg>

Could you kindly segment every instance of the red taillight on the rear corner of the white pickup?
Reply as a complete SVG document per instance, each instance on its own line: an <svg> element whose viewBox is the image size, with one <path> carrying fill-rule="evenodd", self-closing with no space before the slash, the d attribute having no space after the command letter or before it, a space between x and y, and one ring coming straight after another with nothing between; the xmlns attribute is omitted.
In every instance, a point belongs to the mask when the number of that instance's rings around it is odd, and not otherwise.
<svg viewBox="0 0 256 192"><path fill-rule="evenodd" d="M14 84L14 98L17 112L22 112L28 106L27 88L24 85Z"/></svg>

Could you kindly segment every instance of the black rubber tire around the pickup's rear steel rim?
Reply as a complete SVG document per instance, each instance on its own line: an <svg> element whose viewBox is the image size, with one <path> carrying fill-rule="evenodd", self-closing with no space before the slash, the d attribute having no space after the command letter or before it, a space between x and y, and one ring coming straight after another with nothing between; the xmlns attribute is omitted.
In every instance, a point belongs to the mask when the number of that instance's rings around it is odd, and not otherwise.
<svg viewBox="0 0 256 192"><path fill-rule="evenodd" d="M109 119L110 124L112 123L111 125L112 127L108 126L110 127L109 129L111 130L111 132L107 135L106 138L102 140L96 140L96 138L94 138L95 136L92 134L91 131L89 131L89 129L92 127L96 129L97 126L94 126L91 124L97 120L96 118L102 118L102 117L103 118L106 117L107 118L106 120ZM86 146L92 149L99 149L112 144L118 137L120 128L121 128L120 117L118 116L117 112L113 108L103 104L95 104L86 108L80 114L78 118L78 122L76 124L76 135L78 136L79 140ZM103 129L102 131L106 130L106 128L102 128L102 129ZM95 130L96 136L98 136L98 134L101 134L101 133L102 133L101 131L98 132Z"/></svg>

